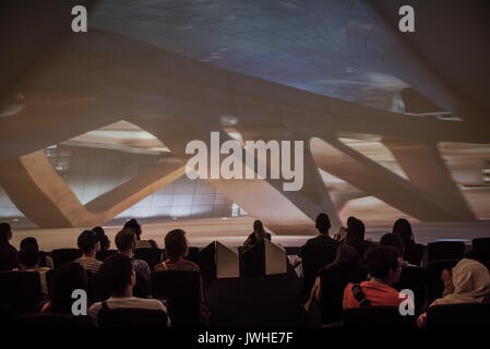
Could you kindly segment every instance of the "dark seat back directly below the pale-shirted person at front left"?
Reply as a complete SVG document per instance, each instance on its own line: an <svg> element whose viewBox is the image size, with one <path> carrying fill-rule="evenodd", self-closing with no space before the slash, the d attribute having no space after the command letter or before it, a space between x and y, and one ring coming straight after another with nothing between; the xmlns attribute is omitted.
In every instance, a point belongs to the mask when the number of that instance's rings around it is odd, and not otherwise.
<svg viewBox="0 0 490 349"><path fill-rule="evenodd" d="M97 322L100 327L167 327L167 313L148 309L100 309Z"/></svg>

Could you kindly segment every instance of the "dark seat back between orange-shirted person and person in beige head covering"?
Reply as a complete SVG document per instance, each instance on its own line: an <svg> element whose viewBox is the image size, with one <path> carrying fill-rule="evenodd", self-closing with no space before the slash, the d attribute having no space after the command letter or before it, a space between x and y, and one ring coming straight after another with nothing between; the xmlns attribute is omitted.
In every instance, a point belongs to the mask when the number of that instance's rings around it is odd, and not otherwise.
<svg viewBox="0 0 490 349"><path fill-rule="evenodd" d="M414 292L415 308L421 310L427 300L427 269L416 266L404 267L398 282L392 285L397 291L409 289Z"/></svg>

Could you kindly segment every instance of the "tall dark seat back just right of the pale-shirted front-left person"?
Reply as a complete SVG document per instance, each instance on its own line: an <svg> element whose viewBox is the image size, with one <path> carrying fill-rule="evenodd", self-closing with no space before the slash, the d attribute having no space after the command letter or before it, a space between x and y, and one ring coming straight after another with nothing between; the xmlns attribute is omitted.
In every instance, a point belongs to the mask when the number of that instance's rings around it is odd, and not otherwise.
<svg viewBox="0 0 490 349"><path fill-rule="evenodd" d="M195 270L162 270L152 273L153 296L168 300L172 326L199 326L201 275Z"/></svg>

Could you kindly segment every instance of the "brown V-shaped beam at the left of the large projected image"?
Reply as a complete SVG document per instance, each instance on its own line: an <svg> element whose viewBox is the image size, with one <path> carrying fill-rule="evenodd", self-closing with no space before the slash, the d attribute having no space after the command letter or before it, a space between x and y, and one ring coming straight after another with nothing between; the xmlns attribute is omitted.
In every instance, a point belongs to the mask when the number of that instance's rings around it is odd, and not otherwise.
<svg viewBox="0 0 490 349"><path fill-rule="evenodd" d="M3 163L0 184L39 228L93 227L112 219L184 171L180 160L169 159L82 205L39 151Z"/></svg>

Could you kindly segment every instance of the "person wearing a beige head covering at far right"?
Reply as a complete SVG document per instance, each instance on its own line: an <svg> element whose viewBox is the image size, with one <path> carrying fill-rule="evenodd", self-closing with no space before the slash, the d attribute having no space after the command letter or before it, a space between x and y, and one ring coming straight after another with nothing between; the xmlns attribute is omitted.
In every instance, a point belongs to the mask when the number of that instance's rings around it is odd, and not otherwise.
<svg viewBox="0 0 490 349"><path fill-rule="evenodd" d="M441 275L444 282L442 298L430 304L490 303L490 273L478 261L463 258L452 269L444 269ZM418 326L426 324L427 313L417 320Z"/></svg>

